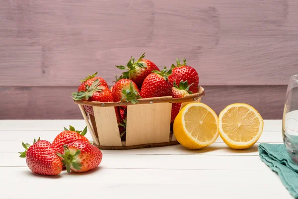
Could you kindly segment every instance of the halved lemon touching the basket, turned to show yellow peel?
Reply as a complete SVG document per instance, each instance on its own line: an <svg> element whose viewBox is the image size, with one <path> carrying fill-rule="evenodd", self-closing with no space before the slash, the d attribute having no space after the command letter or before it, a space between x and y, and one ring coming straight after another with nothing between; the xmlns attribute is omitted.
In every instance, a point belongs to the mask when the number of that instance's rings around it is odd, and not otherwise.
<svg viewBox="0 0 298 199"><path fill-rule="evenodd" d="M188 149L200 149L218 138L218 116L204 103L189 103L176 116L173 130L181 145Z"/></svg>

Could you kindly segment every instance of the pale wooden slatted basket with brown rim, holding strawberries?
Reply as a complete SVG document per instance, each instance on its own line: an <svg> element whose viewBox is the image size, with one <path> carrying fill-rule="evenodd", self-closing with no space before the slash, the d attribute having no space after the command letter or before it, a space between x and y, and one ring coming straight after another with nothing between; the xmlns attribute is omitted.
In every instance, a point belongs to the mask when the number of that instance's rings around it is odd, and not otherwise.
<svg viewBox="0 0 298 199"><path fill-rule="evenodd" d="M172 103L182 103L181 108L191 102L200 102L205 91L184 98L171 96L140 99L131 102L98 102L74 100L91 133L94 145L99 149L136 149L178 144L170 131ZM84 105L93 107L94 115L83 109ZM121 141L114 106L127 105L126 141Z"/></svg>

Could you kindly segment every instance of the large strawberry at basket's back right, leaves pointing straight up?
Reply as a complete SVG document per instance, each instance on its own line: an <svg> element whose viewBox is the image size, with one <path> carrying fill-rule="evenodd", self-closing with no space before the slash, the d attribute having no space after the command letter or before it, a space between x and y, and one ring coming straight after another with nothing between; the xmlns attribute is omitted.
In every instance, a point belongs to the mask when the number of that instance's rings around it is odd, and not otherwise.
<svg viewBox="0 0 298 199"><path fill-rule="evenodd" d="M191 85L189 91L198 93L199 75L197 71L193 67L186 65L186 59L183 59L183 64L178 59L176 59L176 62L177 66L172 64L172 75L169 76L170 83L187 81Z"/></svg>

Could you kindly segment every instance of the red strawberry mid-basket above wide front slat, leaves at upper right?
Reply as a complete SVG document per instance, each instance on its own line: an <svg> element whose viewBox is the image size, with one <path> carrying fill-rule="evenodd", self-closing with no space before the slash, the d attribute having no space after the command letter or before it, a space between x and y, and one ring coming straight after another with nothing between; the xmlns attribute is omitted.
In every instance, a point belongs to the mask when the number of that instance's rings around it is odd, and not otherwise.
<svg viewBox="0 0 298 199"><path fill-rule="evenodd" d="M156 98L163 96L171 96L172 85L168 81L168 76L171 74L172 70L167 71L164 68L161 72L152 71L153 73L149 74L144 80L141 97L142 98Z"/></svg>

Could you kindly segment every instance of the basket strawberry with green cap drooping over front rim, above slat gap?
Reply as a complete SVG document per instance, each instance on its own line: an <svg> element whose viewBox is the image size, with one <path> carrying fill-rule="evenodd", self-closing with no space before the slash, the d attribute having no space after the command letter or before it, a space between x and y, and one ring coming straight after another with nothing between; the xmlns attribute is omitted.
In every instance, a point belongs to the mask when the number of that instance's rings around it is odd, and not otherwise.
<svg viewBox="0 0 298 199"><path fill-rule="evenodd" d="M120 79L113 86L114 101L131 101L132 103L138 103L140 99L140 91L138 86L129 79Z"/></svg>

